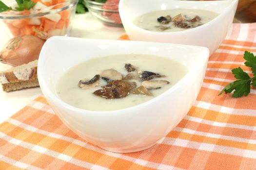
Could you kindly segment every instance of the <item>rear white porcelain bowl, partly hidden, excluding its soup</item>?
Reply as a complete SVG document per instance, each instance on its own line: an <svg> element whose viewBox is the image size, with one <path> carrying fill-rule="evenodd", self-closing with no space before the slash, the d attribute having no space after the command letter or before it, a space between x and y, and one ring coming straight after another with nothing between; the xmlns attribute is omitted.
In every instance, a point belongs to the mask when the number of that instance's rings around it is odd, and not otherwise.
<svg viewBox="0 0 256 170"><path fill-rule="evenodd" d="M207 47L212 54L217 50L230 28L238 0L120 0L119 14L131 40L177 43ZM216 12L216 18L199 27L171 33L147 31L132 22L134 18L166 9L201 9Z"/></svg>

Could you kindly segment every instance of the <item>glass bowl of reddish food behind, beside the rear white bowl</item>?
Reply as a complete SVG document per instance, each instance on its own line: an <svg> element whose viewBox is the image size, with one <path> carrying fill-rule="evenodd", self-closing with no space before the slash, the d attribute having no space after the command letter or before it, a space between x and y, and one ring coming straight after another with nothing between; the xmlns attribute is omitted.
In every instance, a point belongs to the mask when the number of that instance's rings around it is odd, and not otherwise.
<svg viewBox="0 0 256 170"><path fill-rule="evenodd" d="M89 12L98 18L103 24L122 27L122 21L119 16L119 0L107 0L106 3L93 0L84 0Z"/></svg>

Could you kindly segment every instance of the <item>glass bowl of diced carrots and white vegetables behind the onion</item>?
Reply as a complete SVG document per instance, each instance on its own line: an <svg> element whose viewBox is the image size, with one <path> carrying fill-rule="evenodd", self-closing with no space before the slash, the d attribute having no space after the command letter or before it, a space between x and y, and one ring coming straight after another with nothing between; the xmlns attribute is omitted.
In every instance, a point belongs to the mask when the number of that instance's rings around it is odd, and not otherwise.
<svg viewBox="0 0 256 170"><path fill-rule="evenodd" d="M30 10L2 12L0 19L10 37L35 35L47 39L54 35L65 36L70 34L77 3L78 0L57 0L55 5L48 6L38 1ZM15 7L15 4L6 4Z"/></svg>

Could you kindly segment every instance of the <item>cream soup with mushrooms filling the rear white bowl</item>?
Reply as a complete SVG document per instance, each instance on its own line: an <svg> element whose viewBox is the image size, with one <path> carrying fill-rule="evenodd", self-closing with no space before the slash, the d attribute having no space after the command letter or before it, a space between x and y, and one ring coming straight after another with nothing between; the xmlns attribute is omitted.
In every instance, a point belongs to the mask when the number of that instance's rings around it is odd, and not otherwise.
<svg viewBox="0 0 256 170"><path fill-rule="evenodd" d="M155 32L177 32L209 22L218 14L197 9L168 9L143 14L133 20L138 27Z"/></svg>

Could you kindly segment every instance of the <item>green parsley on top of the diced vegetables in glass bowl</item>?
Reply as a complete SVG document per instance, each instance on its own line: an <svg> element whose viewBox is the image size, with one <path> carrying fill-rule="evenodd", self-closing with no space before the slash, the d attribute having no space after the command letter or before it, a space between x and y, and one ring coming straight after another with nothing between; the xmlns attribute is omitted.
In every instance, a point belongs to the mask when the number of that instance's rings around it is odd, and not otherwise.
<svg viewBox="0 0 256 170"><path fill-rule="evenodd" d="M16 0L18 7L15 9L12 9L12 7L9 7L5 5L1 0L0 0L0 13L4 11L23 11L23 10L30 10L36 2L32 2L31 0Z"/></svg>

